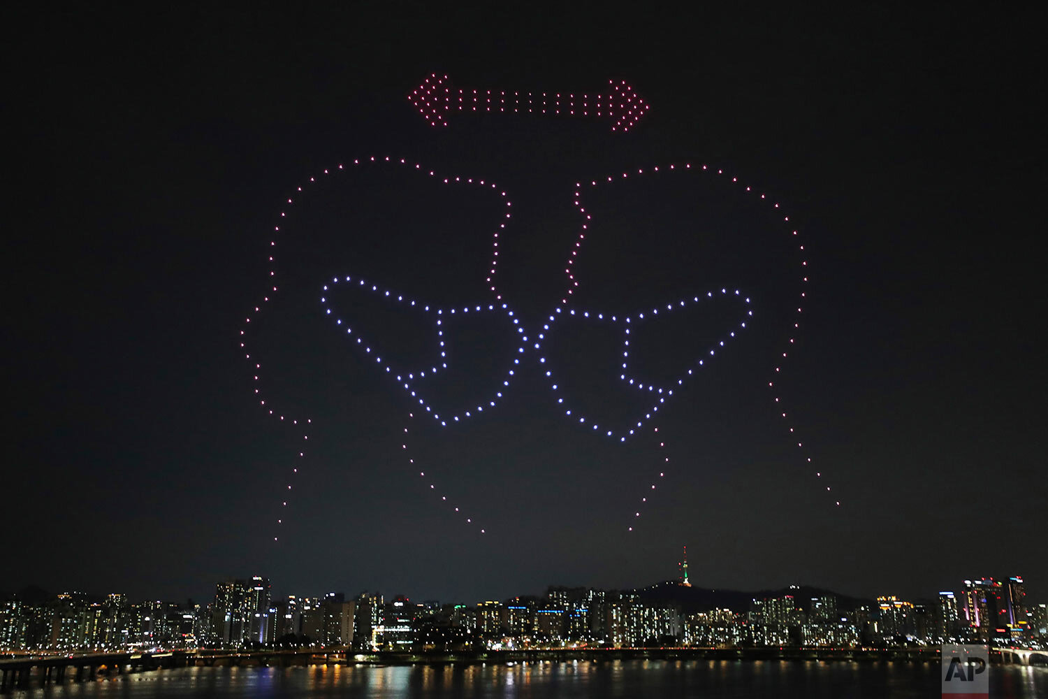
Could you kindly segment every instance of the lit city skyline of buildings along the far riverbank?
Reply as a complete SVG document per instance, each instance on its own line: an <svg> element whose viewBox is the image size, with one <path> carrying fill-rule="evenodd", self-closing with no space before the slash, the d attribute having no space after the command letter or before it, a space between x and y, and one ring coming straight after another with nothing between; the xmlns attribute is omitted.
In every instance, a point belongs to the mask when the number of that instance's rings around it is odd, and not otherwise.
<svg viewBox="0 0 1048 699"><path fill-rule="evenodd" d="M796 585L714 592L693 588L682 575L634 590L549 585L538 595L459 604L412 602L377 590L279 595L268 577L254 575L219 581L206 603L133 602L122 593L9 596L0 602L0 651L1048 647L1048 604L1031 598L1017 575L965 580L956 591L913 600L891 594L861 599Z"/></svg>

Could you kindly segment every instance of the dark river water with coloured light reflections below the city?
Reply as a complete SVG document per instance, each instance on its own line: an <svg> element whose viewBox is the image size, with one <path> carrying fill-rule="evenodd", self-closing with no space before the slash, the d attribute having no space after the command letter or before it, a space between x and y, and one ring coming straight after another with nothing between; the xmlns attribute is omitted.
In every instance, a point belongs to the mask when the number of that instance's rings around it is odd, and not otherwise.
<svg viewBox="0 0 1048 699"><path fill-rule="evenodd" d="M1048 699L1048 668L992 665L991 699ZM615 660L516 664L181 668L49 684L7 697L940 697L939 665L907 662Z"/></svg>

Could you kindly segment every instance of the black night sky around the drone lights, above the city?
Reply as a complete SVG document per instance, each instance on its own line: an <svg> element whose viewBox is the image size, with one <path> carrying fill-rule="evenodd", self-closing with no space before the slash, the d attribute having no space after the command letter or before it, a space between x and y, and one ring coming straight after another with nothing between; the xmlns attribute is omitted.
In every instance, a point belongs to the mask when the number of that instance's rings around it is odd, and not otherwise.
<svg viewBox="0 0 1048 699"><path fill-rule="evenodd" d="M263 574L279 594L474 603L648 585L687 545L703 587L918 597L1021 574L1048 599L1048 12L833 7L12 18L0 589L205 598ZM627 81L651 109L628 133L433 128L406 97L434 71ZM638 380L695 372L626 443L591 427L617 435L654 402L618 378L626 326L558 322L533 349L573 249L565 309L637 323L689 300L633 326ZM334 276L378 292L324 292ZM438 337L385 289L460 311ZM438 338L449 368L419 391L485 407L447 428L374 362L431 366Z"/></svg>

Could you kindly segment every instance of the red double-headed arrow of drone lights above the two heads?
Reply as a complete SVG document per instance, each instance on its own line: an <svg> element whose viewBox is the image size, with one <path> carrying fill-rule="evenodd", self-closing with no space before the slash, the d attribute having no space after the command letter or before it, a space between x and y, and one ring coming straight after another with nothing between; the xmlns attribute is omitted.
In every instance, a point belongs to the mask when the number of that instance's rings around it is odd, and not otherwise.
<svg viewBox="0 0 1048 699"><path fill-rule="evenodd" d="M614 119L612 131L629 131L649 109L626 81L608 81L607 94L454 89L447 75L433 73L408 100L431 126L447 126L453 111L599 116Z"/></svg>

